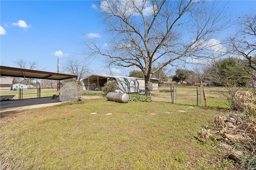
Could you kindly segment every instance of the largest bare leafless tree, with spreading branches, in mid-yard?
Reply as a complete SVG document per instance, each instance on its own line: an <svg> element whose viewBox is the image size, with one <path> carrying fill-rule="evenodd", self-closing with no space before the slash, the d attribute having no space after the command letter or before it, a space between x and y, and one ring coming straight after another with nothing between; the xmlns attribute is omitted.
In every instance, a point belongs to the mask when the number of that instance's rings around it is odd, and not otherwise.
<svg viewBox="0 0 256 170"><path fill-rule="evenodd" d="M85 51L104 56L109 66L142 70L146 95L152 74L168 64L220 53L214 38L228 24L225 4L216 1L104 0L98 8L110 34L108 48L88 38Z"/></svg>

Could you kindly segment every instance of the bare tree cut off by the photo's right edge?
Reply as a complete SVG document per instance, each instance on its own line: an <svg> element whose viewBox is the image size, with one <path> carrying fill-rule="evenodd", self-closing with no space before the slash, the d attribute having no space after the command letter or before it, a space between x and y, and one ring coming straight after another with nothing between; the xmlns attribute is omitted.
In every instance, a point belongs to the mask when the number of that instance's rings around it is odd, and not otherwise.
<svg viewBox="0 0 256 170"><path fill-rule="evenodd" d="M248 14L240 17L238 31L230 41L231 53L246 61L244 69L250 75L253 83L256 82L256 14ZM255 84L254 84L255 86Z"/></svg>

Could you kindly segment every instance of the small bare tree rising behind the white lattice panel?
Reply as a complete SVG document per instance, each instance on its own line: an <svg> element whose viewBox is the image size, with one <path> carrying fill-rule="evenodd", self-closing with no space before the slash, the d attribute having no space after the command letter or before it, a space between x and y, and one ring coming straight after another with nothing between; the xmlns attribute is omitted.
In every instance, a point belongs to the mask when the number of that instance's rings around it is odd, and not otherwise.
<svg viewBox="0 0 256 170"><path fill-rule="evenodd" d="M78 75L79 83L89 74L87 64L76 59L69 59L62 68L64 72Z"/></svg>

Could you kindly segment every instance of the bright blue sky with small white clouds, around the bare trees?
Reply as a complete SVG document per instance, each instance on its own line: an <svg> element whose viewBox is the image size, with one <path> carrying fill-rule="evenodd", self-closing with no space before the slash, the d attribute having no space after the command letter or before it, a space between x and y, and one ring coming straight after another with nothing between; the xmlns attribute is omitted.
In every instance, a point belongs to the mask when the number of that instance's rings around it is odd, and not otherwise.
<svg viewBox="0 0 256 170"><path fill-rule="evenodd" d="M0 1L0 64L18 67L15 61L35 61L38 70L57 72L70 58L80 61L85 36L102 39L104 27L95 1ZM256 12L256 1L230 1L235 16ZM230 30L231 31L231 30ZM110 74L105 63L88 63L93 74ZM112 68L112 74L127 76L129 70Z"/></svg>

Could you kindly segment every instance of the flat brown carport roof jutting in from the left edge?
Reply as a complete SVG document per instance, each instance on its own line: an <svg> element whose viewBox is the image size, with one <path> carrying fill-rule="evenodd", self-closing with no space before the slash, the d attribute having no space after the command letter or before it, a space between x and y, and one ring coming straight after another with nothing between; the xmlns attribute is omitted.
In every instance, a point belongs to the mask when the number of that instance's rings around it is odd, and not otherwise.
<svg viewBox="0 0 256 170"><path fill-rule="evenodd" d="M64 74L58 72L46 72L40 70L30 70L25 68L15 68L8 66L0 66L1 76L23 77L23 78L39 78L49 80L64 80L69 78L76 78L78 75Z"/></svg>

